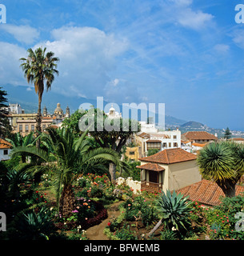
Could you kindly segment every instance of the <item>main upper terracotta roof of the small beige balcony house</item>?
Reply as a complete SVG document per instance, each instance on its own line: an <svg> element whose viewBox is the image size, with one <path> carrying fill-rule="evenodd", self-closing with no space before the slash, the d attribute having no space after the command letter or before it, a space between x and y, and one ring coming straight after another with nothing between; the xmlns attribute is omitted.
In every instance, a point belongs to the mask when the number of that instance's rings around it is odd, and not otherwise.
<svg viewBox="0 0 244 256"><path fill-rule="evenodd" d="M197 156L186 152L180 148L162 150L156 154L150 155L146 158L138 158L139 161L144 162L158 162L162 164L170 164L175 162L185 162L197 159Z"/></svg>

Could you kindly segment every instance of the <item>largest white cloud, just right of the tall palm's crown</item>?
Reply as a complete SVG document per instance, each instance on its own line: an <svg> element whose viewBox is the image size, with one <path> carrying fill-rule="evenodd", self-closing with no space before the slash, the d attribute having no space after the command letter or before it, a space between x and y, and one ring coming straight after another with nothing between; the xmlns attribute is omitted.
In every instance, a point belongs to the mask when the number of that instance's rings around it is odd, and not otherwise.
<svg viewBox="0 0 244 256"><path fill-rule="evenodd" d="M53 90L68 95L103 96L110 72L116 69L116 58L128 43L94 27L64 26L51 32L54 41L38 43L60 58L59 76ZM114 79L114 86L118 78Z"/></svg>

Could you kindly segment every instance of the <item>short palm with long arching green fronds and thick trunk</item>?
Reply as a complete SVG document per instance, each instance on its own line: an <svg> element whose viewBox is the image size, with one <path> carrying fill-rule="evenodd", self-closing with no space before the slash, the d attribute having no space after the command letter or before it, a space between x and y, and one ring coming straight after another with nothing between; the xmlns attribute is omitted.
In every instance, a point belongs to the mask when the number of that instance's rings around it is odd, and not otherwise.
<svg viewBox="0 0 244 256"><path fill-rule="evenodd" d="M84 132L78 139L75 138L72 130L48 129L48 134L42 134L42 140L48 142L50 152L36 147L16 147L12 154L34 154L44 162L57 162L51 166L55 170L54 187L58 209L62 216L69 216L74 210L74 191L72 182L76 174L82 172L87 165L96 165L104 160L120 165L118 154L111 149L91 149L90 142L86 139L88 131Z"/></svg>

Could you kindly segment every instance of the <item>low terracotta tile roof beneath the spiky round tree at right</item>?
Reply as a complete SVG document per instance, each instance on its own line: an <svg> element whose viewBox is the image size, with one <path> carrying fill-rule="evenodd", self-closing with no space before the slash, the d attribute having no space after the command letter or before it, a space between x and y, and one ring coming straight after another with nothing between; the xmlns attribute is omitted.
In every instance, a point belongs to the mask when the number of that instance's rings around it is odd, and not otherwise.
<svg viewBox="0 0 244 256"><path fill-rule="evenodd" d="M244 186L236 185L236 195L244 192ZM190 186L185 186L176 191L184 196L189 196L190 200L201 202L208 206L218 206L221 203L220 197L225 194L222 189L215 183L203 179L201 182L194 183Z"/></svg>

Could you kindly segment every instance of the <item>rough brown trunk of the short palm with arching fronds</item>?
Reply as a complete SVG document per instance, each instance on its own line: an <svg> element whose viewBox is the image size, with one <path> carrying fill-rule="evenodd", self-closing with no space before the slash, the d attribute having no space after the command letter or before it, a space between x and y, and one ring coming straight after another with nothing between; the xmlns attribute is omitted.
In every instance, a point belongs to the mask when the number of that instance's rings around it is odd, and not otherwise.
<svg viewBox="0 0 244 256"><path fill-rule="evenodd" d="M72 210L74 210L74 202L75 197L72 185L65 185L62 189L59 208L62 217L70 217Z"/></svg>

